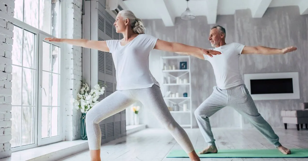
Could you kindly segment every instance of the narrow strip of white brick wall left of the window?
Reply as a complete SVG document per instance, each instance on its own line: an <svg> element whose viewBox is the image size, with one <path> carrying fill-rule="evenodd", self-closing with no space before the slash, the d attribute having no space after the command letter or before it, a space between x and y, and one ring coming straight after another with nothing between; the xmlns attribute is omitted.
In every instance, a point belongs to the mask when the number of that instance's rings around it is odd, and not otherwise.
<svg viewBox="0 0 308 161"><path fill-rule="evenodd" d="M13 16L14 0L1 0L0 12ZM11 155L13 25L0 17L0 158Z"/></svg>

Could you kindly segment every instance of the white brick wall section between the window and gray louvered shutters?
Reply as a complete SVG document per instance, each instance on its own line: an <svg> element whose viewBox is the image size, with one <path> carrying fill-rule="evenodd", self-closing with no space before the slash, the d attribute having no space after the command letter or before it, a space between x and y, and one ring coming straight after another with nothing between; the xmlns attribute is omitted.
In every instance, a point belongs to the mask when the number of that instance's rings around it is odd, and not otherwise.
<svg viewBox="0 0 308 161"><path fill-rule="evenodd" d="M82 0L66 0L66 38L82 38ZM65 140L80 139L80 111L76 110L71 99L77 98L82 81L82 48L67 45L65 95Z"/></svg>

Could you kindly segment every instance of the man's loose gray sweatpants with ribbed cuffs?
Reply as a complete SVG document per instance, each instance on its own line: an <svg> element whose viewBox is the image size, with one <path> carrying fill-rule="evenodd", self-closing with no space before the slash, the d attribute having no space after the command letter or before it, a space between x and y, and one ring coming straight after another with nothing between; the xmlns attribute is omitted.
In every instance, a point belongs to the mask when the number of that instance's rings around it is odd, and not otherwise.
<svg viewBox="0 0 308 161"><path fill-rule="evenodd" d="M220 89L215 86L212 95L209 96L195 111L195 117L205 141L209 145L215 145L215 139L211 130L209 117L225 106L233 107L242 116L247 118L261 134L274 144L280 146L279 137L274 130L259 114L249 91L244 84L228 89Z"/></svg>

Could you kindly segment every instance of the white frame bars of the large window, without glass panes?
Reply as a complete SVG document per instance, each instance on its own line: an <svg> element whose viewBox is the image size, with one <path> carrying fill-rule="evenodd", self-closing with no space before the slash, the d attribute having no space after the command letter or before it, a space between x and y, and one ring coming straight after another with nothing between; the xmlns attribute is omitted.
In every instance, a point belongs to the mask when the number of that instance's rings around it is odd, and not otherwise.
<svg viewBox="0 0 308 161"><path fill-rule="evenodd" d="M59 0L60 1L60 15L59 16L59 38L62 38L63 35L65 35L65 26L63 26L63 24L65 24L65 13L66 13L66 7L65 7L65 2L63 0ZM42 54L42 52L40 52L39 50L39 45L42 44L42 39L45 38L45 37L54 37L52 36L51 34L47 34L46 32L42 31L42 30L39 30L38 28L35 28L33 26L30 26L29 24L25 23L25 22L22 22L20 20L18 20L17 18L14 18L8 14L5 14L3 12L0 12L0 15L2 18L6 19L7 21L13 23L13 25L15 26L18 26L18 27L21 27L25 30L28 30L32 33L35 34L35 40L36 40L36 44L35 44L35 48L36 48L36 60L39 60ZM63 16L64 15L64 16ZM63 18L64 17L64 18ZM14 38L14 37L13 37ZM51 42L48 42L48 43L51 43ZM59 53L60 54L64 54L65 53L65 46L61 43L52 43L53 45L56 45L56 46L59 46L60 47L60 51ZM63 91L65 89L61 88L61 87L65 87L65 76L61 75L64 72L64 68L63 66L65 65L65 59L64 59L64 56L61 56L60 55L60 81L59 81L59 85L60 85L60 90L59 90L59 97L60 95L63 93ZM20 147L14 147L14 148L11 148L11 151L12 152L15 152L15 151L21 151L21 150L25 150L25 149L30 149L30 148L34 148L34 147L39 147L39 146L42 146L42 145L46 145L46 144L49 144L49 143L55 143L55 142L58 142L58 141L64 141L65 140L65 131L64 131L64 122L63 122L63 117L65 116L64 115L64 112L65 112L65 103L64 103L64 99L62 97L60 97L60 108L59 108L59 136L56 136L56 137L51 137L51 138L44 138L44 139L41 139L39 138L39 133L41 133L41 127L39 126L39 120L41 120L41 110L42 110L42 103L39 102L38 100L40 100L42 98L42 92L40 91L39 89L39 85L41 85L41 83L39 81L41 81L41 78L42 78L42 68L41 66L39 67L39 64L41 63L41 60L40 61L37 61L36 62L36 69L38 71L39 74L36 75L36 80L35 80L35 100L36 100L36 106L35 106L35 115L34 115L34 118L35 118L35 121L34 121L34 143L33 144L30 144L30 145L25 145L25 146L20 146ZM14 81L14 80L13 80ZM39 132L40 131L40 132Z"/></svg>

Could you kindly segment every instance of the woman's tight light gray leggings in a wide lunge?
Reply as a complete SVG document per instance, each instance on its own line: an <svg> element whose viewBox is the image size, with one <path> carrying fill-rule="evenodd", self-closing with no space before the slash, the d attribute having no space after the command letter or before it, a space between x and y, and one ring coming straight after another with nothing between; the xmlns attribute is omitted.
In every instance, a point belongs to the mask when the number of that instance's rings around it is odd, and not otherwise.
<svg viewBox="0 0 308 161"><path fill-rule="evenodd" d="M171 135L186 153L190 153L194 150L193 144L189 140L187 133L173 119L164 102L160 88L157 85L153 85L150 88L115 91L92 107L87 112L86 116L86 130L90 150L98 150L101 146L99 122L111 115L123 111L137 100L139 100L145 108L152 110L156 118L169 130Z"/></svg>

